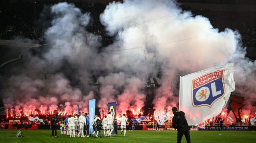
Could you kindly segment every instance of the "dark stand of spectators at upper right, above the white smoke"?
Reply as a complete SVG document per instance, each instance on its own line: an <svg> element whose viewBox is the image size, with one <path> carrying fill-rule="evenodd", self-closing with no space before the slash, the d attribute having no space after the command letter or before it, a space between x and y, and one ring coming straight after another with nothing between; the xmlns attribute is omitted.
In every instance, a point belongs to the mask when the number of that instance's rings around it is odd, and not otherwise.
<svg viewBox="0 0 256 143"><path fill-rule="evenodd" d="M246 47L256 46L256 18L255 12L223 12L194 9L194 15L201 15L209 18L212 26L224 31L225 28L237 30L243 45Z"/></svg>

